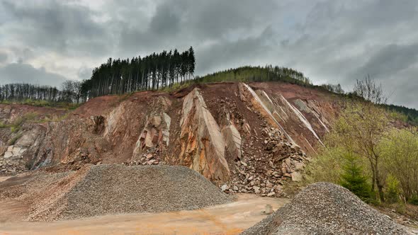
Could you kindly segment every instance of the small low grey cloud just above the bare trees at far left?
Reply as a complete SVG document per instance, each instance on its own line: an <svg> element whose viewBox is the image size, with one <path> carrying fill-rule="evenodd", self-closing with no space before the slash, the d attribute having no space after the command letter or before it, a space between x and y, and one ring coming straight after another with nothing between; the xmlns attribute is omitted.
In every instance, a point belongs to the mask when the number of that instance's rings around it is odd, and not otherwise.
<svg viewBox="0 0 418 235"><path fill-rule="evenodd" d="M60 86L66 78L60 74L52 74L45 69L36 69L30 64L7 64L0 67L0 84L30 83Z"/></svg>

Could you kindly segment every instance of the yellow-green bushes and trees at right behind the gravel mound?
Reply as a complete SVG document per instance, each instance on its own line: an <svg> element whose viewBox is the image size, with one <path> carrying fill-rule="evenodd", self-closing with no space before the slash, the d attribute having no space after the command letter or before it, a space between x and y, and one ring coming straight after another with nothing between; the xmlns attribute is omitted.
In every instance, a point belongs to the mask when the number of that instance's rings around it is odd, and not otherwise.
<svg viewBox="0 0 418 235"><path fill-rule="evenodd" d="M349 103L308 165L307 183L338 183L366 202L417 203L418 132L390 122L378 105Z"/></svg>

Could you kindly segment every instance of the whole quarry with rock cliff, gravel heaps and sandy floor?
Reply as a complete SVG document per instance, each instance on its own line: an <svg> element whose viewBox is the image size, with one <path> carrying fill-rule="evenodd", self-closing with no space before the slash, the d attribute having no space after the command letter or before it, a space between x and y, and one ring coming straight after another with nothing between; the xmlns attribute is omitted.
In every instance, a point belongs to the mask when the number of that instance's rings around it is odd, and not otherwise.
<svg viewBox="0 0 418 235"><path fill-rule="evenodd" d="M298 193L343 108L281 82L0 104L26 118L0 129L0 233L417 234L332 183Z"/></svg>

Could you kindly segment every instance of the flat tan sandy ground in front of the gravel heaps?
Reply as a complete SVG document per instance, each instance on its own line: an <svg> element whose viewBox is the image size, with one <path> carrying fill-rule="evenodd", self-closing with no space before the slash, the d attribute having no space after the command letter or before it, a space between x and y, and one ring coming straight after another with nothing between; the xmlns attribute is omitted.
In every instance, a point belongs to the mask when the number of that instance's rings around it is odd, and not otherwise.
<svg viewBox="0 0 418 235"><path fill-rule="evenodd" d="M58 222L20 222L17 212L24 205L0 205L0 234L239 234L266 217L264 207L273 210L288 203L283 198L238 195L236 202L202 210L157 214L118 214ZM14 214L14 216L13 216ZM18 213L17 213L18 214ZM5 217L9 218L6 219ZM13 218L13 219L12 219Z"/></svg>

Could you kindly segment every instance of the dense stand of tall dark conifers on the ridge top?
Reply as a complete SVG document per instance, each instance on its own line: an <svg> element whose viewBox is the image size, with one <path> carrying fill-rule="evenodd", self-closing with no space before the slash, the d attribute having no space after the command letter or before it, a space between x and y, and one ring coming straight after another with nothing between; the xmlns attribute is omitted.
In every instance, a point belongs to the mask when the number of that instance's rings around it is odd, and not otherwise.
<svg viewBox="0 0 418 235"><path fill-rule="evenodd" d="M158 90L193 79L195 67L193 47L181 53L175 49L142 58L109 58L106 63L93 69L91 79L83 81L81 93L84 97L93 98L108 94Z"/></svg>

